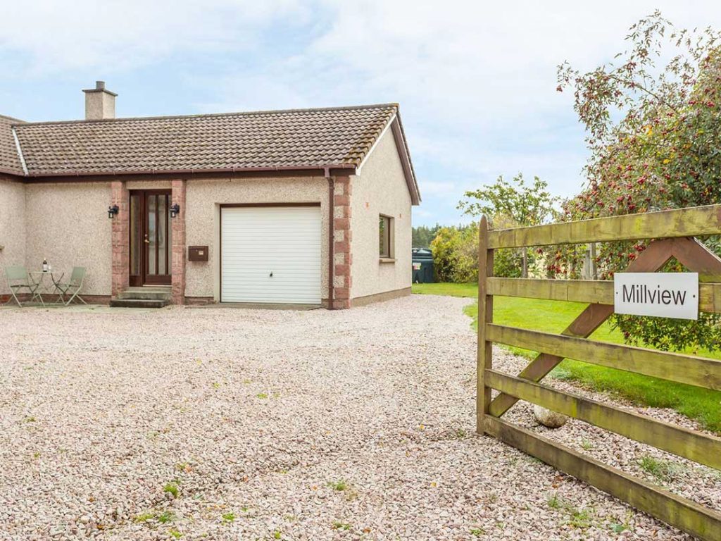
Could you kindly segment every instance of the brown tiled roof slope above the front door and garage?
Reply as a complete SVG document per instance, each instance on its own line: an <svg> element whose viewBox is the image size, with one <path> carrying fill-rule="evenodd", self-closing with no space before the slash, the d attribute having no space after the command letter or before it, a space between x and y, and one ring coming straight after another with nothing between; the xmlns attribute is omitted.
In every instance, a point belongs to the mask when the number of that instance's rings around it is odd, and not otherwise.
<svg viewBox="0 0 721 541"><path fill-rule="evenodd" d="M23 123L15 131L30 176L349 167L361 163L397 110L384 104Z"/></svg>

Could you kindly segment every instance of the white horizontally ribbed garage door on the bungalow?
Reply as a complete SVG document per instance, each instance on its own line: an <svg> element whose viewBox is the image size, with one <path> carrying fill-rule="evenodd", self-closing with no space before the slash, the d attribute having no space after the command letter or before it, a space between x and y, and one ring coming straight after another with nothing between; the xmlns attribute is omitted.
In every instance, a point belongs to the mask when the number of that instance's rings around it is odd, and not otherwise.
<svg viewBox="0 0 721 541"><path fill-rule="evenodd" d="M221 302L320 304L320 207L221 208Z"/></svg>

